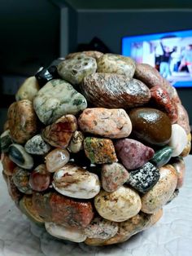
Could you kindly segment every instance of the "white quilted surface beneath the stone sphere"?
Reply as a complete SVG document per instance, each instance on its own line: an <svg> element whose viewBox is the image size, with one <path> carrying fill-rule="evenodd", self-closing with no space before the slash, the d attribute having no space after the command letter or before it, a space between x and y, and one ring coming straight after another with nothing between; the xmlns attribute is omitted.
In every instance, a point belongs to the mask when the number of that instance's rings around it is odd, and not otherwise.
<svg viewBox="0 0 192 256"><path fill-rule="evenodd" d="M185 157L185 164L184 186L164 206L159 222L123 244L106 247L59 241L31 223L11 201L0 164L0 256L191 256L192 156Z"/></svg>

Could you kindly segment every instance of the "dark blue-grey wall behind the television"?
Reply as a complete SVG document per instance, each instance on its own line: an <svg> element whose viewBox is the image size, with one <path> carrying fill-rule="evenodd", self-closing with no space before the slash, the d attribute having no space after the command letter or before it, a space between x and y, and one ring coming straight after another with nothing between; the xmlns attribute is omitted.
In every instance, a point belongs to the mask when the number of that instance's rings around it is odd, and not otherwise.
<svg viewBox="0 0 192 256"><path fill-rule="evenodd" d="M192 11L79 11L78 43L97 36L114 53L121 53L125 35L192 29ZM191 84L192 86L192 84ZM192 88L178 90L192 124Z"/></svg>

